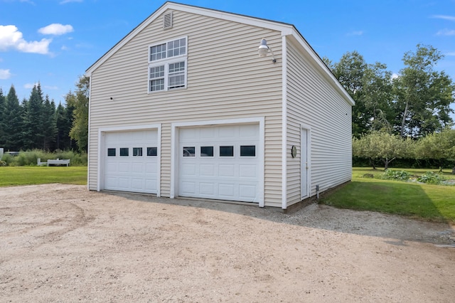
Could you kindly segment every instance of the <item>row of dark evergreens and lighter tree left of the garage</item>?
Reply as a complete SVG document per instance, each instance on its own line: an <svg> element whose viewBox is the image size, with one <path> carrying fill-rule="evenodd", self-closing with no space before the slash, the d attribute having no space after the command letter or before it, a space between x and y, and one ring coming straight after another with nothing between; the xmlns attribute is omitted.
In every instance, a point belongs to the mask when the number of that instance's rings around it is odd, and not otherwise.
<svg viewBox="0 0 455 303"><path fill-rule="evenodd" d="M55 106L43 97L40 83L28 99L19 102L11 85L0 88L0 147L5 151L28 149L87 151L89 79L81 77L75 92L65 95L65 105Z"/></svg>

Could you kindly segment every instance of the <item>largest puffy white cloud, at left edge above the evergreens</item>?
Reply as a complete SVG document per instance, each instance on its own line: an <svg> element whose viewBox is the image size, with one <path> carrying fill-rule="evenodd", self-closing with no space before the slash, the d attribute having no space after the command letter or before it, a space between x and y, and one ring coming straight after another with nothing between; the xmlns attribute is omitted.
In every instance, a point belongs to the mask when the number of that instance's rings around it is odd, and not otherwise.
<svg viewBox="0 0 455 303"><path fill-rule="evenodd" d="M19 50L23 53L49 53L49 44L52 39L41 39L41 41L26 41L16 26L0 26L0 51L9 49Z"/></svg>

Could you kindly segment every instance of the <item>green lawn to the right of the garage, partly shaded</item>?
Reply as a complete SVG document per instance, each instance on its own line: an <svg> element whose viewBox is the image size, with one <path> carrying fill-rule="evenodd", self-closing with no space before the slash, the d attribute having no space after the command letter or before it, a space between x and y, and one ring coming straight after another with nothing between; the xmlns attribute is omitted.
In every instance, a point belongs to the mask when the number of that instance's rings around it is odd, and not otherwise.
<svg viewBox="0 0 455 303"><path fill-rule="evenodd" d="M429 171L427 169L404 170L416 175ZM362 178L364 174L373 174L377 178L383 173L383 170L354 168L353 181L321 198L321 203L338 208L378 211L455 223L455 186ZM446 173L444 178L455 179L455 176Z"/></svg>

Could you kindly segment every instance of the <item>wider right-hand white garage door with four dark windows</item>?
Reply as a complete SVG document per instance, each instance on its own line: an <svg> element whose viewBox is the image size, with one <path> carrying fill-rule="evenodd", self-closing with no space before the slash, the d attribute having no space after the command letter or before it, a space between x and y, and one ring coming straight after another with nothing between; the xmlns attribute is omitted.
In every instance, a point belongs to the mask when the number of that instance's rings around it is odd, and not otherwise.
<svg viewBox="0 0 455 303"><path fill-rule="evenodd" d="M259 202L259 125L182 128L178 196Z"/></svg>

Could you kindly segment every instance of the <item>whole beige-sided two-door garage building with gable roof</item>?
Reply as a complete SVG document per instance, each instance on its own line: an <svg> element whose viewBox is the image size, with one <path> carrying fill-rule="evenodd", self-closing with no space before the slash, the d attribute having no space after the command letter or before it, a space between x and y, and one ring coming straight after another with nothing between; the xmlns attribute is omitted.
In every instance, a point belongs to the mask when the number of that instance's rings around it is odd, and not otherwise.
<svg viewBox="0 0 455 303"><path fill-rule="evenodd" d="M353 100L290 24L166 2L86 75L90 190L286 209L351 179Z"/></svg>

